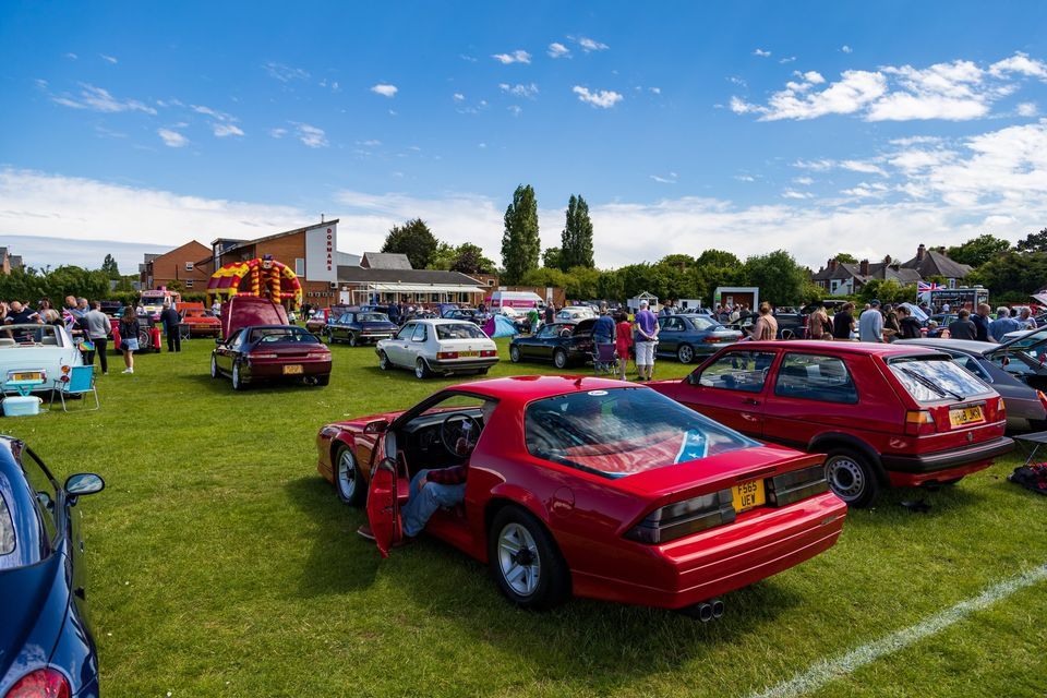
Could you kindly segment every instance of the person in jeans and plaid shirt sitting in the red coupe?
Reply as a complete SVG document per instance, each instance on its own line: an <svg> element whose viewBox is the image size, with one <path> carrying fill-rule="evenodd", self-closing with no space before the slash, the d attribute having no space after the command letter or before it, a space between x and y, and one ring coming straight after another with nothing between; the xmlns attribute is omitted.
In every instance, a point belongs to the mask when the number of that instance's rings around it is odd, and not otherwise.
<svg viewBox="0 0 1047 698"><path fill-rule="evenodd" d="M480 428L491 421L497 402L485 400L480 407L482 417ZM466 498L466 479L469 476L469 455L480 441L480 434L471 434L471 422L462 424L461 435L455 445L455 450L465 458L461 465L449 468L419 470L411 478L410 496L407 504L400 509L404 521L404 539L412 539L422 532L430 517L436 509L449 509L461 504ZM357 529L357 533L368 540L374 540L371 527L364 524Z"/></svg>

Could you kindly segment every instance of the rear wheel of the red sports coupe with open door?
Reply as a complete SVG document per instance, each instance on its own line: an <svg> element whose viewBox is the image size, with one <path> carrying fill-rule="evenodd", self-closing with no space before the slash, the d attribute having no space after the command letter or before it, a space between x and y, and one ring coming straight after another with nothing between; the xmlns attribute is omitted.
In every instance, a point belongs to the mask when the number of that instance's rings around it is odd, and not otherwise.
<svg viewBox="0 0 1047 698"><path fill-rule="evenodd" d="M520 543L516 552L512 551L516 544L514 541ZM494 583L518 606L552 609L570 597L570 573L556 542L542 522L526 509L508 505L495 514L488 531L488 559ZM514 565L525 567L525 571L521 578L510 581L516 569Z"/></svg>

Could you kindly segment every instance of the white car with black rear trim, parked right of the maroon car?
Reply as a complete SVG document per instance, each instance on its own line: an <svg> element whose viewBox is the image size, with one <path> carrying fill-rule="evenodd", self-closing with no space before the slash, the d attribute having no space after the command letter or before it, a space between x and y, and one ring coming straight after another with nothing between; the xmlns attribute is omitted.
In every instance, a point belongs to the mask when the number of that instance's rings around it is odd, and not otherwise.
<svg viewBox="0 0 1047 698"><path fill-rule="evenodd" d="M473 323L460 320L412 320L392 339L374 347L378 368L411 369L419 378L433 374L486 373L498 362L498 348Z"/></svg>

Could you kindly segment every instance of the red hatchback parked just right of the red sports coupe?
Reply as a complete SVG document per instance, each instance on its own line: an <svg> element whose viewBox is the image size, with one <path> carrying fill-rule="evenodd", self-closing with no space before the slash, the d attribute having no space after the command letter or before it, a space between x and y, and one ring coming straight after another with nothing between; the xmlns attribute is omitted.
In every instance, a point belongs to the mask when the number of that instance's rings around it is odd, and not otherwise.
<svg viewBox="0 0 1047 698"><path fill-rule="evenodd" d="M1000 396L913 345L743 342L649 385L749 436L827 454L829 485L854 506L889 485L952 484L1014 446Z"/></svg>

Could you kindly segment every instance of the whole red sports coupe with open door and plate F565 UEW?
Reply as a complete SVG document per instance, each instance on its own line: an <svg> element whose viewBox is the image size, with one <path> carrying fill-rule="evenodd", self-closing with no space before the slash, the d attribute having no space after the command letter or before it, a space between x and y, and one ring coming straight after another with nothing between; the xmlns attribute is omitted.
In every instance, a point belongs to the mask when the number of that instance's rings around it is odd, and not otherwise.
<svg viewBox="0 0 1047 698"><path fill-rule="evenodd" d="M462 432L479 433L468 456ZM467 383L405 412L328 424L316 445L341 500L366 502L383 556L402 537L411 476L468 465L464 504L425 530L489 563L528 607L575 594L708 619L722 612L715 597L832 546L846 512L821 457L603 378Z"/></svg>

